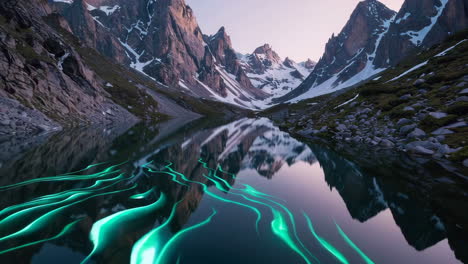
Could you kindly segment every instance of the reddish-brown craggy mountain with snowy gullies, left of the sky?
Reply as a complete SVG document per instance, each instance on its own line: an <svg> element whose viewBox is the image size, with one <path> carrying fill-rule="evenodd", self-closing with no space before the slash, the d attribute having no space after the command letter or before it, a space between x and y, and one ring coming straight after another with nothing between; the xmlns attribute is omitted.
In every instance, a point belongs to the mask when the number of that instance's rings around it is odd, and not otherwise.
<svg viewBox="0 0 468 264"><path fill-rule="evenodd" d="M248 108L267 97L233 62L224 28L207 39L183 0L55 0L53 5L82 41L163 85Z"/></svg>

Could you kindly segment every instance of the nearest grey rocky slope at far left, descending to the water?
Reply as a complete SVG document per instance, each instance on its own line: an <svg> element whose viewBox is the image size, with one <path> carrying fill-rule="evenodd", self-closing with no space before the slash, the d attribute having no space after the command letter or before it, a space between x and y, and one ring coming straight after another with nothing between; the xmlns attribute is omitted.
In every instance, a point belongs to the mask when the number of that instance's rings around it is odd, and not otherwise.
<svg viewBox="0 0 468 264"><path fill-rule="evenodd" d="M44 1L0 3L0 132L135 122L134 115L110 99L104 80L45 24L42 17L50 13Z"/></svg>

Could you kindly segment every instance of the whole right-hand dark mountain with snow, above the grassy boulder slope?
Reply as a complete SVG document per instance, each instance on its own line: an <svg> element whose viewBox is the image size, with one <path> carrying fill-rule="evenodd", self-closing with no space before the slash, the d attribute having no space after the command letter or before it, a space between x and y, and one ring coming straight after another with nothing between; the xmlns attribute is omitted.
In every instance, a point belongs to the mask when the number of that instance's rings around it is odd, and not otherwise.
<svg viewBox="0 0 468 264"><path fill-rule="evenodd" d="M406 0L398 13L377 0L360 2L348 23L328 41L314 71L276 100L299 101L356 85L404 58L468 27L459 0Z"/></svg>

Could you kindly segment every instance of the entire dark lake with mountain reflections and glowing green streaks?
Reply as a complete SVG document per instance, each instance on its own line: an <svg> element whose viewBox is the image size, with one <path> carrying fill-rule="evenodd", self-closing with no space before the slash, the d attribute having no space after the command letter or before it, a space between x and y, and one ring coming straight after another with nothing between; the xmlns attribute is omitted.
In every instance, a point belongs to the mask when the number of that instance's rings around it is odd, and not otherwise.
<svg viewBox="0 0 468 264"><path fill-rule="evenodd" d="M0 140L2 263L468 261L463 178L209 121Z"/></svg>

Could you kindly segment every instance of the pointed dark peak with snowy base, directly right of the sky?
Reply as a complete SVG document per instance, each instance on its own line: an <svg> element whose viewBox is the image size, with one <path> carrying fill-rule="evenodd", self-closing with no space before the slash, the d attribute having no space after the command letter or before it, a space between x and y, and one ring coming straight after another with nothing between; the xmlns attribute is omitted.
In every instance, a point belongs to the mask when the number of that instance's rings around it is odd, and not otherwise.
<svg viewBox="0 0 468 264"><path fill-rule="evenodd" d="M328 40L312 73L281 100L333 92L382 71L374 65L375 54L395 15L376 0L360 2L341 32Z"/></svg>

